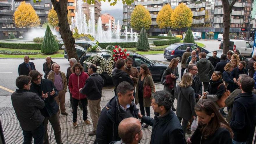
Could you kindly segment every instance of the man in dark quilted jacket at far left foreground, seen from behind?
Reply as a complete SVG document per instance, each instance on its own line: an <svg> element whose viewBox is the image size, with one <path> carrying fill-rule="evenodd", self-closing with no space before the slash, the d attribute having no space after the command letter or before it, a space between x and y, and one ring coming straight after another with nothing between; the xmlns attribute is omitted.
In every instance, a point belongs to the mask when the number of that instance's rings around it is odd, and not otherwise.
<svg viewBox="0 0 256 144"><path fill-rule="evenodd" d="M16 113L19 125L22 128L24 143L42 144L45 128L43 126L44 116L40 109L43 109L45 102L42 100L48 97L43 94L40 98L36 93L29 92L31 77L21 75L16 79L18 89L12 94L13 109ZM33 113L33 115L31 115Z"/></svg>

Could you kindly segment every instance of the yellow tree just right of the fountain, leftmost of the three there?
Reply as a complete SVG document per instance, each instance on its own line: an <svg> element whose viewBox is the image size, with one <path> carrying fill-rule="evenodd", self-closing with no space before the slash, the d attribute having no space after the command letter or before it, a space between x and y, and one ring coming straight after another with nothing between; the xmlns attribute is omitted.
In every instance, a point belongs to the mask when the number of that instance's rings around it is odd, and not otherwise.
<svg viewBox="0 0 256 144"><path fill-rule="evenodd" d="M150 29L151 16L149 11L142 5L137 5L131 13L131 27L136 30Z"/></svg>

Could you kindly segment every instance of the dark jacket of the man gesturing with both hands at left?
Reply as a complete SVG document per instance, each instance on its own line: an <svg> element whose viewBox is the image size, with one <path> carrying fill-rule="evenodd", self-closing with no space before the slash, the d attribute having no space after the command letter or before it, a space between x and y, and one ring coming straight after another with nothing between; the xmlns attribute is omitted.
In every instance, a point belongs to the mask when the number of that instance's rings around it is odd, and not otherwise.
<svg viewBox="0 0 256 144"><path fill-rule="evenodd" d="M53 89L55 90L55 94L51 96L50 93ZM54 97L58 95L58 90L55 88L51 80L41 79L40 85L32 82L29 91L36 93L40 98L42 98L42 91L44 93L48 93L48 97L45 99L45 107L41 110L43 116L51 117L58 112L59 106L54 99Z"/></svg>

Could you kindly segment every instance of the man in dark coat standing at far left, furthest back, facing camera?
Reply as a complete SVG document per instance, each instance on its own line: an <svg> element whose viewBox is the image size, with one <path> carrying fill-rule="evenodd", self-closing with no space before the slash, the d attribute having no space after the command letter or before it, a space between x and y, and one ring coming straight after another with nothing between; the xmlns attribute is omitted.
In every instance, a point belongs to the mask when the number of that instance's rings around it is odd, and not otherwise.
<svg viewBox="0 0 256 144"><path fill-rule="evenodd" d="M21 63L18 67L18 73L20 75L29 75L31 70L35 70L35 65L33 62L29 61L29 56L24 56L24 63Z"/></svg>

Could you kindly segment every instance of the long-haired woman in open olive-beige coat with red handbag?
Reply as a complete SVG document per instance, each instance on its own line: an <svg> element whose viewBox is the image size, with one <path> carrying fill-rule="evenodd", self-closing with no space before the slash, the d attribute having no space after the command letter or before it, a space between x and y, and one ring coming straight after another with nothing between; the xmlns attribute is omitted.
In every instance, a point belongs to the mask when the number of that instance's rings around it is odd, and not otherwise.
<svg viewBox="0 0 256 144"><path fill-rule="evenodd" d="M145 109L147 116L150 117L150 104L152 100L152 93L155 92L155 85L151 73L147 65L140 66L140 74L136 83L135 104L139 103L141 115L145 116ZM145 107L145 109L144 109ZM147 128L148 125L145 125ZM145 128L144 127L144 128Z"/></svg>

